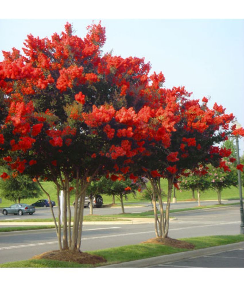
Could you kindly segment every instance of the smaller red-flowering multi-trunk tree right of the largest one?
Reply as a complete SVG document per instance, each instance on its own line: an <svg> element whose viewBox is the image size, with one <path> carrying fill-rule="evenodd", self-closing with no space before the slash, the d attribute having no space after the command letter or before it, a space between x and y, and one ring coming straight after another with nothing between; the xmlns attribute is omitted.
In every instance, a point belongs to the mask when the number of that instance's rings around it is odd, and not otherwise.
<svg viewBox="0 0 244 286"><path fill-rule="evenodd" d="M172 187L174 184L178 186L180 175L187 176L189 174L185 173L186 169L192 170L200 165L204 168L210 162L214 166L228 168L222 158L229 156L230 151L216 147L215 144L226 140L231 132L229 123L234 116L225 114L224 108L216 103L213 109L208 108L206 97L202 103L191 100L190 94L183 87L171 90L158 87L155 93L158 99L151 100L149 106L158 108L158 119L162 120L162 126L156 126L158 128L154 129L154 135L149 140L144 140L143 147L149 156L138 158L137 164L133 165L133 175L145 176L151 183L155 233L156 237L163 239L168 236L169 231ZM167 129L169 125L165 118L171 118L171 130ZM157 132L160 132L160 139ZM168 181L165 214L160 178ZM156 197L159 201L159 215Z"/></svg>

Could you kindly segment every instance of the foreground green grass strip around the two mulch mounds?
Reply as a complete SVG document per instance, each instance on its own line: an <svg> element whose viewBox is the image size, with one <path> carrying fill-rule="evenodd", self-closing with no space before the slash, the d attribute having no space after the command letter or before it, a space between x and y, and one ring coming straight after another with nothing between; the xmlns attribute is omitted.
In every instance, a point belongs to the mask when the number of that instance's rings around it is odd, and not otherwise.
<svg viewBox="0 0 244 286"><path fill-rule="evenodd" d="M230 243L236 243L244 241L244 235L213 235L205 237L191 237L180 239L193 243L195 249L201 249L206 247L225 245ZM98 267L107 264L115 264L126 261L133 261L138 259L145 259L150 257L156 257L166 254L173 254L189 251L189 249L170 247L166 245L154 244L154 243L140 243L135 245L126 245L121 247L113 247L108 249L101 249L96 251L89 251L89 254L98 255L104 257L107 262L103 264L77 264L73 262L61 262L57 260L22 260L17 262L8 262L0 264L1 268L5 267Z"/></svg>

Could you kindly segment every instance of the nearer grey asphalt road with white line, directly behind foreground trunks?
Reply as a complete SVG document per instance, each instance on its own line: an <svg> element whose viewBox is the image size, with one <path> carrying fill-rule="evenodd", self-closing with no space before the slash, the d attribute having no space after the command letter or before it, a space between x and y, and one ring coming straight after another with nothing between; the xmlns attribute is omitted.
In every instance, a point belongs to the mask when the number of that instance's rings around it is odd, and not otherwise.
<svg viewBox="0 0 244 286"><path fill-rule="evenodd" d="M141 210L140 210L141 211ZM239 206L174 213L169 237L239 234ZM82 251L140 243L155 237L154 225L84 225ZM36 254L58 249L54 230L21 231L0 234L0 263L26 260Z"/></svg>

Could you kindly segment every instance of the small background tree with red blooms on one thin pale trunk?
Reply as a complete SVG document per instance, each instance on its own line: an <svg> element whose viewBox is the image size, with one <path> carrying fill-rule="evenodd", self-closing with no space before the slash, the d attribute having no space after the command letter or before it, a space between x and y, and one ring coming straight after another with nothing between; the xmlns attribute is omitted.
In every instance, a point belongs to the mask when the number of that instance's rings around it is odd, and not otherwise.
<svg viewBox="0 0 244 286"><path fill-rule="evenodd" d="M202 166L192 171L188 170L188 172L190 173L189 176L186 178L182 176L179 179L180 188L185 191L197 191L197 201L198 206L200 207L201 193L209 189L211 186L209 177L207 176L208 172L204 170Z"/></svg>

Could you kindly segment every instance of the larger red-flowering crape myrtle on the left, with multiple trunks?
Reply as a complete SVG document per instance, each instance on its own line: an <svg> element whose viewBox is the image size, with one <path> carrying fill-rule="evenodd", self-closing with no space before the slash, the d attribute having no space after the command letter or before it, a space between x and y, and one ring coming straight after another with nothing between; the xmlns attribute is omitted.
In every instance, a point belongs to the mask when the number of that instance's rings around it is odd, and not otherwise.
<svg viewBox="0 0 244 286"><path fill-rule="evenodd" d="M103 54L105 39L100 23L89 26L84 39L75 36L67 23L65 32L51 39L28 35L24 55L13 48L3 52L0 63L1 157L13 171L32 176L49 199L40 180L55 183L57 221L52 207L51 212L60 251L80 249L90 183L104 173L118 177L111 174L111 170L118 173L117 168L126 174L130 158L148 156L143 140L152 133L160 140L164 135L155 128L164 121L167 132L174 125L171 116L159 119L164 114L160 105L150 106L158 96L154 90L162 73L148 76L150 64L144 59ZM3 172L1 178L6 180L9 174ZM75 193L72 234L71 191Z"/></svg>

